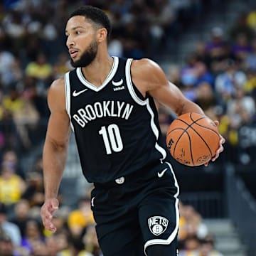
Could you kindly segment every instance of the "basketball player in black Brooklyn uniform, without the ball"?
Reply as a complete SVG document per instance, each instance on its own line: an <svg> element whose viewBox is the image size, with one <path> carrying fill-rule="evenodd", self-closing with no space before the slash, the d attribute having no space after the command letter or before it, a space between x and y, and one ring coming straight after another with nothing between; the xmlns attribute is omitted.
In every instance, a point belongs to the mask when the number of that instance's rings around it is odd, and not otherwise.
<svg viewBox="0 0 256 256"><path fill-rule="evenodd" d="M53 213L73 130L82 172L95 185L91 207L103 255L176 255L178 183L154 100L176 114L203 111L154 61L108 55L110 31L106 14L92 6L74 11L66 24L75 69L48 92L43 224L55 232ZM220 137L212 161L223 143Z"/></svg>

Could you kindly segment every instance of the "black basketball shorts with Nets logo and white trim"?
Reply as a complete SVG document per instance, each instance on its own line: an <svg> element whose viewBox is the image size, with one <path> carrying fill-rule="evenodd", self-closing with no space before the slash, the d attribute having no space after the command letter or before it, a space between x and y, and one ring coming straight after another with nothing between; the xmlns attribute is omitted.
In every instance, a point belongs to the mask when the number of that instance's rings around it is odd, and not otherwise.
<svg viewBox="0 0 256 256"><path fill-rule="evenodd" d="M169 163L95 184L92 211L104 256L176 256L178 184Z"/></svg>

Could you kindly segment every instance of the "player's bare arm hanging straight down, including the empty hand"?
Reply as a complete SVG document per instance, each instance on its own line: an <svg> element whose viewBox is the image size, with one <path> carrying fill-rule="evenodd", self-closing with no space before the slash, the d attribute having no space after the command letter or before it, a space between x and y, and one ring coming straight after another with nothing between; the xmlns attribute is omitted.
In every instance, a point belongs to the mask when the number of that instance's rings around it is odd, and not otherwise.
<svg viewBox="0 0 256 256"><path fill-rule="evenodd" d="M47 230L55 232L53 213L58 210L58 189L63 176L70 137L70 119L65 110L65 85L63 78L55 80L48 91L50 117L43 146L43 183L45 202L41 218Z"/></svg>

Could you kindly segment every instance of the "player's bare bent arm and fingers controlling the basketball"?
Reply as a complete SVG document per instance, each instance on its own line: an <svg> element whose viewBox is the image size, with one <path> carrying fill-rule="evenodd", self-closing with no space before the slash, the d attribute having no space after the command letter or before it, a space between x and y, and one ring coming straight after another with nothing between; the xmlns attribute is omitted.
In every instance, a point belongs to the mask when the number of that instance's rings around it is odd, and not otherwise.
<svg viewBox="0 0 256 256"><path fill-rule="evenodd" d="M142 95L145 96L148 93L155 100L169 107L177 115L187 112L205 114L201 107L188 100L176 85L169 82L164 70L154 61L146 58L132 61L131 73L132 81ZM214 122L218 126L218 120ZM215 161L223 151L224 143L225 139L220 135L220 146L213 159L211 159L212 161Z"/></svg>

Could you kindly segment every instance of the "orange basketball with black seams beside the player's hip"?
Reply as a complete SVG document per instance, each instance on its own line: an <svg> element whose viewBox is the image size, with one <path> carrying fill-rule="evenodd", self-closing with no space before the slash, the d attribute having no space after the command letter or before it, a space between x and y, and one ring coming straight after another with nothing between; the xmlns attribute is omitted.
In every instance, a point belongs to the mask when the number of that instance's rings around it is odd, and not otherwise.
<svg viewBox="0 0 256 256"><path fill-rule="evenodd" d="M213 120L194 112L178 116L166 132L171 156L186 166L201 166L210 161L219 143L220 135Z"/></svg>

